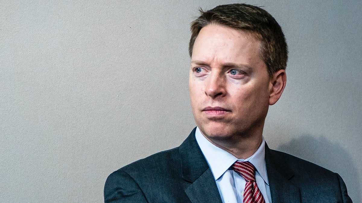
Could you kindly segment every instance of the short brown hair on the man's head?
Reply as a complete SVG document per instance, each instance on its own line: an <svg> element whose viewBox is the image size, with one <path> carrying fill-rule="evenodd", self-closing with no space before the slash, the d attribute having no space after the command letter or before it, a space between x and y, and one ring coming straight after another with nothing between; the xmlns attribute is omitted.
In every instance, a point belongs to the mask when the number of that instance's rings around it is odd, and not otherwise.
<svg viewBox="0 0 362 203"><path fill-rule="evenodd" d="M219 5L201 15L191 23L189 55L200 30L210 24L250 32L260 40L260 56L271 75L287 66L288 50L284 34L278 22L264 9L248 4Z"/></svg>

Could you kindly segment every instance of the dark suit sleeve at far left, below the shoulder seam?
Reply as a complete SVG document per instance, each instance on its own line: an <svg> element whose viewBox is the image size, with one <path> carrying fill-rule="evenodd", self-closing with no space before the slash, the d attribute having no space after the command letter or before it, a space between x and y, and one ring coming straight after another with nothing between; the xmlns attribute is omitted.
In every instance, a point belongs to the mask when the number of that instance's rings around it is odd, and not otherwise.
<svg viewBox="0 0 362 203"><path fill-rule="evenodd" d="M106 180L104 202L144 203L148 201L136 181L128 173L117 170Z"/></svg>

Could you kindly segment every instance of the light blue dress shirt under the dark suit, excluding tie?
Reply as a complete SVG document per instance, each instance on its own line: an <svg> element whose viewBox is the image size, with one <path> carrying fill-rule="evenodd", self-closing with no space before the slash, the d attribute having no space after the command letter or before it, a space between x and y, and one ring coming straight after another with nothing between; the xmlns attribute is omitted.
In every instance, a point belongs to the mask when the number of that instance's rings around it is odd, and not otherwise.
<svg viewBox="0 0 362 203"><path fill-rule="evenodd" d="M230 169L235 161L249 161L254 165L256 168L256 183L261 194L264 196L265 203L271 203L268 176L266 174L264 137L262 138L260 147L251 157L247 159L237 159L229 152L216 147L208 141L201 134L199 128L196 128L195 136L214 175L223 203L243 203L246 181L239 173Z"/></svg>

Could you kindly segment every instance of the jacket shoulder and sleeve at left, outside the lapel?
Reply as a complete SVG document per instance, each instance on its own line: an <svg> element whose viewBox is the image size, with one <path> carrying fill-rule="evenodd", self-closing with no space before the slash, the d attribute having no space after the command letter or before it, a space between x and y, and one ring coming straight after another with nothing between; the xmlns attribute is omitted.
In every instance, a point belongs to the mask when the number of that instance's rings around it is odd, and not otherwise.
<svg viewBox="0 0 362 203"><path fill-rule="evenodd" d="M150 201L157 202L160 191L163 192L165 199L176 198L175 196L185 198L182 196L185 194L173 194L174 190L184 190L180 184L182 182L180 168L178 147L128 164L108 176L104 186L105 202L113 199L122 199L124 202L146 202L146 197Z"/></svg>

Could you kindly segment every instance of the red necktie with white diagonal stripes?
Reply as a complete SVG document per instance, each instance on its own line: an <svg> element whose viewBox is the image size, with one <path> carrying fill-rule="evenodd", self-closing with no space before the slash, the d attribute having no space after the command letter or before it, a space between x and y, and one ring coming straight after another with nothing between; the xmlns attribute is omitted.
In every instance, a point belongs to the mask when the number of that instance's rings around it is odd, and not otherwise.
<svg viewBox="0 0 362 203"><path fill-rule="evenodd" d="M259 187L256 185L255 168L249 161L236 161L231 168L238 172L247 183L245 183L244 203L265 203Z"/></svg>

